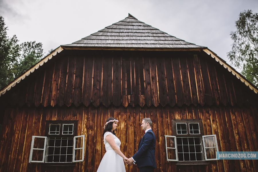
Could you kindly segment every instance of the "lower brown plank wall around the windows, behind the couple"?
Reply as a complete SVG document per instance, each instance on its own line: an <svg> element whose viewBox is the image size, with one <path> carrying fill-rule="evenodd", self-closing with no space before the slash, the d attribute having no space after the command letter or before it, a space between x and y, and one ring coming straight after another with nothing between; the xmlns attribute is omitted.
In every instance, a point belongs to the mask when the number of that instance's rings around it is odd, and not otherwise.
<svg viewBox="0 0 258 172"><path fill-rule="evenodd" d="M173 135L172 119L202 119L204 134L216 134L220 151L257 151L257 108L239 107L140 107L132 108L105 106L80 107L7 107L1 140L0 171L46 170L44 164L28 163L30 144L33 135L44 136L46 120L77 120L77 135L85 135L85 161L70 167L74 171L96 171L105 153L102 127L108 116L114 116L118 123L117 136L121 140L121 150L132 156L138 147L143 132L140 128L142 118L153 119L156 135L156 171L184 169L193 171L255 171L257 161L219 160L209 165L176 166L167 162L164 135ZM54 167L48 167L48 169ZM126 166L127 171L137 171L135 166ZM57 171L62 171L56 168Z"/></svg>

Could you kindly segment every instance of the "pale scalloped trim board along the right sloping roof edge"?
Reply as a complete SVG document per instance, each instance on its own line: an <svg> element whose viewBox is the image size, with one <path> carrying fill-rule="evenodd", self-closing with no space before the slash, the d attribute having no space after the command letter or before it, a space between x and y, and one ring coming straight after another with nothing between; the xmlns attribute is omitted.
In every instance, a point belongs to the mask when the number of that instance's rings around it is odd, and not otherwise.
<svg viewBox="0 0 258 172"><path fill-rule="evenodd" d="M232 75L236 76L237 79L240 79L242 83L245 83L246 86L248 86L251 90L253 90L256 94L258 93L258 89L253 86L252 83L250 83L247 79L243 77L240 73L238 73L234 68L232 68L229 64L227 64L224 60L222 60L219 56L214 54L211 50L204 49L204 52L206 52L208 55L210 55L212 58L215 58L216 62L219 62L225 69L228 69Z"/></svg>

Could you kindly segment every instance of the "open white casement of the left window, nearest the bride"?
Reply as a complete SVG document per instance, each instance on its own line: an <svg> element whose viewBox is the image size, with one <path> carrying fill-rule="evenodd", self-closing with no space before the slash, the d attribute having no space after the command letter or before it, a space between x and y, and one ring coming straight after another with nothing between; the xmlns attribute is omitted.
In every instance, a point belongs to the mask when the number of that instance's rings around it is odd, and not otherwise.
<svg viewBox="0 0 258 172"><path fill-rule="evenodd" d="M79 142L79 145L76 145L78 143L78 141L76 142L76 139L79 140L79 138L82 138L81 142ZM84 135L74 136L73 138L73 163L82 162L84 160L84 139L85 139ZM75 159L78 156L77 152L79 152L79 159Z"/></svg>

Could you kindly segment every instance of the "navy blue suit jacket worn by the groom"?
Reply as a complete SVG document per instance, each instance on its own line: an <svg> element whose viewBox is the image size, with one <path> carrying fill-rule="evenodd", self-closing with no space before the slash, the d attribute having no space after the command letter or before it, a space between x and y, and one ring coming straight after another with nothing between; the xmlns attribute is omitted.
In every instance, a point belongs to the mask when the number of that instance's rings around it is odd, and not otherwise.
<svg viewBox="0 0 258 172"><path fill-rule="evenodd" d="M149 130L142 137L138 151L134 154L133 159L136 161L138 167L152 166L156 168L155 161L155 146L156 137L152 130Z"/></svg>

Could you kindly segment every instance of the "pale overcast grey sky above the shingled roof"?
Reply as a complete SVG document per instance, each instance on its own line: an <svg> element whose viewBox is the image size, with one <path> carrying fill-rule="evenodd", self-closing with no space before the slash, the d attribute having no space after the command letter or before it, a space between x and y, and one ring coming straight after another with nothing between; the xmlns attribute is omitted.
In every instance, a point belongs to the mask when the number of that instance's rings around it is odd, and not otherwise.
<svg viewBox="0 0 258 172"><path fill-rule="evenodd" d="M70 44L131 13L159 30L201 46L226 60L239 13L258 12L258 0L0 0L0 15L21 42L42 42L44 52Z"/></svg>

